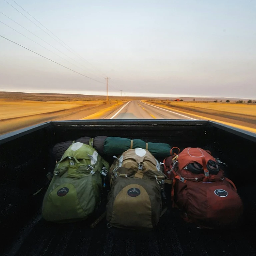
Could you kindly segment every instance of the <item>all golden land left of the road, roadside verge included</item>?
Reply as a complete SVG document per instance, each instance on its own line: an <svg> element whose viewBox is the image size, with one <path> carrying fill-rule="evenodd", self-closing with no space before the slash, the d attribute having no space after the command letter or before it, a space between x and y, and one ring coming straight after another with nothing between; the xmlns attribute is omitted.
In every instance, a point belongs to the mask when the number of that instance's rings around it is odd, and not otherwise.
<svg viewBox="0 0 256 256"><path fill-rule="evenodd" d="M0 92L0 135L53 120L96 118L136 97ZM146 99L146 98L141 98Z"/></svg>

